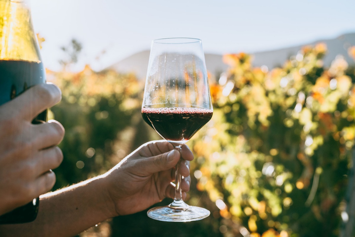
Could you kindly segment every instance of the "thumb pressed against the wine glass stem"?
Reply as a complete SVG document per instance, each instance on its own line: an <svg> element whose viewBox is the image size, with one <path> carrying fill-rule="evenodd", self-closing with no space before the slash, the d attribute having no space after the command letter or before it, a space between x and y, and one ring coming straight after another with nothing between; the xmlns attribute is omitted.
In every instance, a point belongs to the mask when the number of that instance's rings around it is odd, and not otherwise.
<svg viewBox="0 0 355 237"><path fill-rule="evenodd" d="M142 165L147 173L153 174L175 167L179 159L180 152L178 150L171 150L169 152L144 159L145 164Z"/></svg>

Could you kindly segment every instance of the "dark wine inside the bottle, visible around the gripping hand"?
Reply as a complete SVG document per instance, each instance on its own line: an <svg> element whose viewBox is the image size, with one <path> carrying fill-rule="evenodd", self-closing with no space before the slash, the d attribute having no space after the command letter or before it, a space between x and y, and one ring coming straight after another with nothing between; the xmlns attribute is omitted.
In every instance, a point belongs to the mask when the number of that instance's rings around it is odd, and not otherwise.
<svg viewBox="0 0 355 237"><path fill-rule="evenodd" d="M41 62L0 60L0 106L27 88L45 83L45 69ZM32 123L47 121L47 110L40 113ZM0 224L33 221L38 213L39 198L0 216Z"/></svg>

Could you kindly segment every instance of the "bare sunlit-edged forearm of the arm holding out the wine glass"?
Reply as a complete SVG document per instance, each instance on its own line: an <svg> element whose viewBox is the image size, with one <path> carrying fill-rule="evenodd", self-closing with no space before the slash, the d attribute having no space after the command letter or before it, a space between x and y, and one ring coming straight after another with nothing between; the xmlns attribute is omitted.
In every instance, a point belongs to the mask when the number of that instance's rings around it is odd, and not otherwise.
<svg viewBox="0 0 355 237"><path fill-rule="evenodd" d="M102 177L40 197L35 221L0 225L1 236L73 236L113 215Z"/></svg>

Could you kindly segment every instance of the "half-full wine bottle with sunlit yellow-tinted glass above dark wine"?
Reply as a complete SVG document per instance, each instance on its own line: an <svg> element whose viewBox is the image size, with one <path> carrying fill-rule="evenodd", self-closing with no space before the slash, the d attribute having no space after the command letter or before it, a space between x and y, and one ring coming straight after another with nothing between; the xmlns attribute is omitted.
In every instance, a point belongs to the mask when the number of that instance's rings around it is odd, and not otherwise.
<svg viewBox="0 0 355 237"><path fill-rule="evenodd" d="M0 106L27 88L45 83L45 69L27 0L0 0ZM47 121L47 110L32 123ZM39 198L2 216L0 224L33 221Z"/></svg>

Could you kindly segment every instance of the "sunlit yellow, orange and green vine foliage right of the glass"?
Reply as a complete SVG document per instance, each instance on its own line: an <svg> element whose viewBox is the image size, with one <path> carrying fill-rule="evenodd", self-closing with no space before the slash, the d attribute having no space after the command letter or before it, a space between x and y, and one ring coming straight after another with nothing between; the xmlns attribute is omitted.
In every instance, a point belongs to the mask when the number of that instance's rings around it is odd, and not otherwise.
<svg viewBox="0 0 355 237"><path fill-rule="evenodd" d="M312 210L321 206L319 209L341 221L339 213L332 210L338 210L337 201L343 198L344 179L337 178L336 187L321 185L323 177L318 187L312 181L323 171L346 174L350 167L344 161L349 160L355 137L355 86L351 82L355 71L341 57L324 68L326 52L324 43L305 46L274 69L253 67L245 53L226 54L223 61L230 66L228 80L224 85L211 85L215 110L211 126L216 133L212 137L207 129L195 137L206 141L195 142L193 147L204 157L197 165L203 173L197 188L206 190L211 200L223 198L230 208L221 210L220 215L229 218L228 212L232 219L241 220L251 236L307 233L294 227L301 221L290 220L289 211L304 215L293 200L302 196L299 193L310 194L313 188L317 188L314 197L304 195L304 200L297 202L309 203ZM349 49L349 55L355 58L355 47ZM276 149L276 153L268 152ZM319 226L327 225L322 211L313 213L317 221L310 219L301 225L314 228L320 220ZM276 230L261 235L261 230L270 227Z"/></svg>

